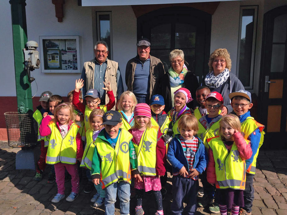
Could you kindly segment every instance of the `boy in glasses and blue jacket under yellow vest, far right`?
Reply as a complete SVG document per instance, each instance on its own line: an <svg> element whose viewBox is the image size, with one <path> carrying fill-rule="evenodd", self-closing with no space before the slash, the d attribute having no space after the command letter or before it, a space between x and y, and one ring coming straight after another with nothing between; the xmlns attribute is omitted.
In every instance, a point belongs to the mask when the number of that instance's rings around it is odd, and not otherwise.
<svg viewBox="0 0 287 215"><path fill-rule="evenodd" d="M256 159L259 148L262 146L265 132L264 125L258 123L250 115L251 93L246 90L239 90L229 94L233 114L239 117L241 123L241 132L244 138L250 141L252 156L246 160L246 184L244 190L244 208L240 209L240 214L251 215L252 203L254 199L253 178L256 170Z"/></svg>

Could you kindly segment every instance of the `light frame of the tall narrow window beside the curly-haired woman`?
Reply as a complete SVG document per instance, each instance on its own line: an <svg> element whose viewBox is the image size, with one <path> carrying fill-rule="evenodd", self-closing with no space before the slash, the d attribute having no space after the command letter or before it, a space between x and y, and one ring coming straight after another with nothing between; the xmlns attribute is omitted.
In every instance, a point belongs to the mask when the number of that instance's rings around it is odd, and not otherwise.
<svg viewBox="0 0 287 215"><path fill-rule="evenodd" d="M251 58L250 58L249 85L248 86L244 86L245 89L252 90L253 89L253 82L254 82L254 65L255 65L255 49L256 49L256 36L257 36L258 5L240 6L236 75L237 75L237 77L239 77L240 43L241 43L241 33L242 33L242 31L241 31L241 29L242 29L242 14L243 14L243 10L245 10L245 9L254 9L253 37L252 37L252 51L251 51Z"/></svg>

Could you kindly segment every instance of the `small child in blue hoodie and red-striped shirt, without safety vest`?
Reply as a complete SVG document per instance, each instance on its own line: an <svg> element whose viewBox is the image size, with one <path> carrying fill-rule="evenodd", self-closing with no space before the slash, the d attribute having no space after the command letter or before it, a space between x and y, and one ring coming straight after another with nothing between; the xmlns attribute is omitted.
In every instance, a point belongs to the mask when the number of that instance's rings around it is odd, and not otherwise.
<svg viewBox="0 0 287 215"><path fill-rule="evenodd" d="M166 155L173 174L171 212L195 214L198 176L205 170L208 158L203 142L194 136L198 132L198 120L191 114L184 114L178 128L180 134L171 140Z"/></svg>

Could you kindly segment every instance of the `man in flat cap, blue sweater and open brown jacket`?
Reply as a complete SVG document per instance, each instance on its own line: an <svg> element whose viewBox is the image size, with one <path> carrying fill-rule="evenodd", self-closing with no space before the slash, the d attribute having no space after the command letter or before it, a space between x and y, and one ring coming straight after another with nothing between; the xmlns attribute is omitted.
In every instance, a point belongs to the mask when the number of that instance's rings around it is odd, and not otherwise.
<svg viewBox="0 0 287 215"><path fill-rule="evenodd" d="M160 80L165 74L162 61L149 54L150 42L147 38L137 41L138 55L130 59L125 69L125 83L138 103L149 103L157 94Z"/></svg>

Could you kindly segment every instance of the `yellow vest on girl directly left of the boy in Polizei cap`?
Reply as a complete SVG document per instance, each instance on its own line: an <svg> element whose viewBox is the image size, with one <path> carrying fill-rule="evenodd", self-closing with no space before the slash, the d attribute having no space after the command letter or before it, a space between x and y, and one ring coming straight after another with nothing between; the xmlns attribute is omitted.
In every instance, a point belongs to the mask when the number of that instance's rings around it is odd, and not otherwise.
<svg viewBox="0 0 287 215"><path fill-rule="evenodd" d="M86 132L86 146L84 149L83 158L80 164L80 167L86 167L89 170L92 170L92 159L94 154L95 145L93 143L93 130L88 129Z"/></svg>

